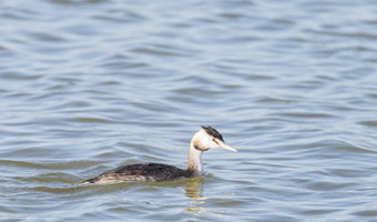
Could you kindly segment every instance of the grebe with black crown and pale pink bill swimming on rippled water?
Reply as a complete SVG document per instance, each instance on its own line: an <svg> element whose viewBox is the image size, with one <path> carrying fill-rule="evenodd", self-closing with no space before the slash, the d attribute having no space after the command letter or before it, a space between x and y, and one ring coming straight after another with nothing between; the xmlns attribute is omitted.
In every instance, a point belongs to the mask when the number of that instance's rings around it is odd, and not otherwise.
<svg viewBox="0 0 377 222"><path fill-rule="evenodd" d="M223 135L220 134L217 130L210 125L202 127L190 142L186 170L161 163L147 162L126 164L85 180L81 184L104 184L122 181L164 181L180 176L196 176L202 172L202 152L207 151L211 148L223 148L237 152L234 148L224 142Z"/></svg>

